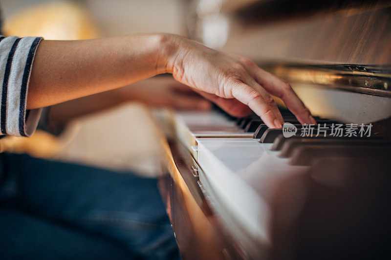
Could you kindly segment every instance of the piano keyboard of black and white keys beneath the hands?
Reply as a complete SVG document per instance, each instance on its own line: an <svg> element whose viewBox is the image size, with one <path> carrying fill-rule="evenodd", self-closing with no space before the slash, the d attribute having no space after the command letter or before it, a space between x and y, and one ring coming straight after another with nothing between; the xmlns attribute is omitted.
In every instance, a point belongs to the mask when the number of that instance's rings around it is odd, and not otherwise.
<svg viewBox="0 0 391 260"><path fill-rule="evenodd" d="M382 159L391 158L391 140L376 133L369 137L336 137L330 130L318 137L302 136L304 126L289 112L282 116L298 129L292 137L285 138L282 129L268 128L255 115L240 119L218 111L175 115L177 137L198 164L205 198L250 258L273 254L279 244L286 247L284 234L297 228L292 228L292 223L300 223L305 214L317 215L318 219L311 217L315 222L325 217L308 207L319 203L325 210L335 210L324 203L328 196L335 198L340 192L348 195L341 198L344 203L357 204L363 189L373 200L388 200L384 192L390 195L384 183L374 181L378 189L371 190L365 185L370 182L368 175L373 175L373 180L390 180L385 176L388 165ZM315 120L328 127L340 123L319 117ZM312 190L317 186L322 189L322 198ZM316 202L313 198L317 198ZM359 214L360 220L368 218L370 212L359 208L351 212L339 210L342 216ZM372 213L378 211L381 210L375 208ZM371 218L383 220L381 216L379 213ZM348 221L354 220L343 218L336 221L335 227Z"/></svg>

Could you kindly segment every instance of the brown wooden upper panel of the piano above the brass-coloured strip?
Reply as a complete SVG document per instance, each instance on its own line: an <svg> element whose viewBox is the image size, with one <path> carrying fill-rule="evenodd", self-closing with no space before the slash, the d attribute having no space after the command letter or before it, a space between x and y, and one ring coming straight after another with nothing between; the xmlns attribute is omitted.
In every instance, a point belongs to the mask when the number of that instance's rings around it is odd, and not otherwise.
<svg viewBox="0 0 391 260"><path fill-rule="evenodd" d="M280 19L278 9L273 13L275 20L270 15L267 16L270 19L263 19L261 10L258 14L261 22L234 18L223 49L253 60L390 64L389 1L359 2L359 7L333 8L333 12L313 15L286 15L286 19ZM299 10L292 9L292 14L300 14Z"/></svg>

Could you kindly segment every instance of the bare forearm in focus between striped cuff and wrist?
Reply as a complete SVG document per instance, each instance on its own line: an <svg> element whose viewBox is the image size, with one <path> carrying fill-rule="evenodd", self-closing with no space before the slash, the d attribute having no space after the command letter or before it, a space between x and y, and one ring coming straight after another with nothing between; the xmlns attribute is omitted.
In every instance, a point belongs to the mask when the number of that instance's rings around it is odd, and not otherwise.
<svg viewBox="0 0 391 260"><path fill-rule="evenodd" d="M77 99L166 72L166 37L43 40L31 71L27 109Z"/></svg>

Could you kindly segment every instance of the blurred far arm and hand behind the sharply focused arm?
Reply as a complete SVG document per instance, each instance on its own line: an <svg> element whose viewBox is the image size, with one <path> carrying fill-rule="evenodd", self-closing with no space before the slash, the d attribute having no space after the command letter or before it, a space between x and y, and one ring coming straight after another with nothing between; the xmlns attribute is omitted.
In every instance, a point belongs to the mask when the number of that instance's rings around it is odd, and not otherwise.
<svg viewBox="0 0 391 260"><path fill-rule="evenodd" d="M53 105L49 110L49 124L63 128L68 121L77 117L130 101L177 110L205 111L212 107L208 100L188 86L175 81L173 77L157 76L118 89ZM240 116L248 115L248 111L246 112Z"/></svg>

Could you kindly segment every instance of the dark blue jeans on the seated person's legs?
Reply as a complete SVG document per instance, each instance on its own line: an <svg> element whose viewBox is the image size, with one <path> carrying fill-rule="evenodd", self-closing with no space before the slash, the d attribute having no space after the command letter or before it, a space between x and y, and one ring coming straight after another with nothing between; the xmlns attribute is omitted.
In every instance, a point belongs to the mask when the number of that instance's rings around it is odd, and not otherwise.
<svg viewBox="0 0 391 260"><path fill-rule="evenodd" d="M179 259L154 179L0 154L1 259Z"/></svg>

